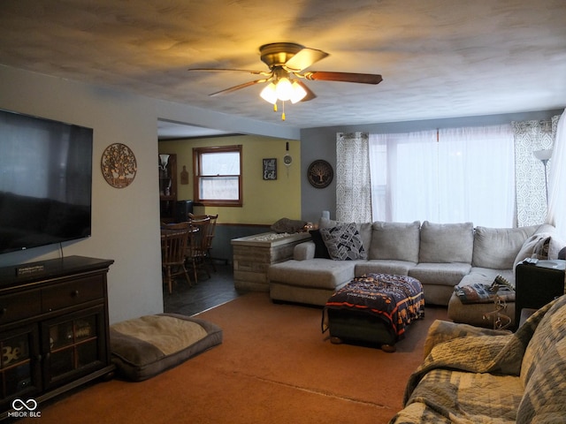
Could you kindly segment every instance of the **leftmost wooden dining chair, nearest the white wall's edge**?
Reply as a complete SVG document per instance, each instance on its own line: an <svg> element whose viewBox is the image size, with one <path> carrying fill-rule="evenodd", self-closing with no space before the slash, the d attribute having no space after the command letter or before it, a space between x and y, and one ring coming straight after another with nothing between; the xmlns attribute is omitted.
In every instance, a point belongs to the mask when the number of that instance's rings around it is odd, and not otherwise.
<svg viewBox="0 0 566 424"><path fill-rule="evenodd" d="M193 285L185 267L190 223L169 223L161 227L161 266L164 282L172 293L175 276L185 276L187 283Z"/></svg>

